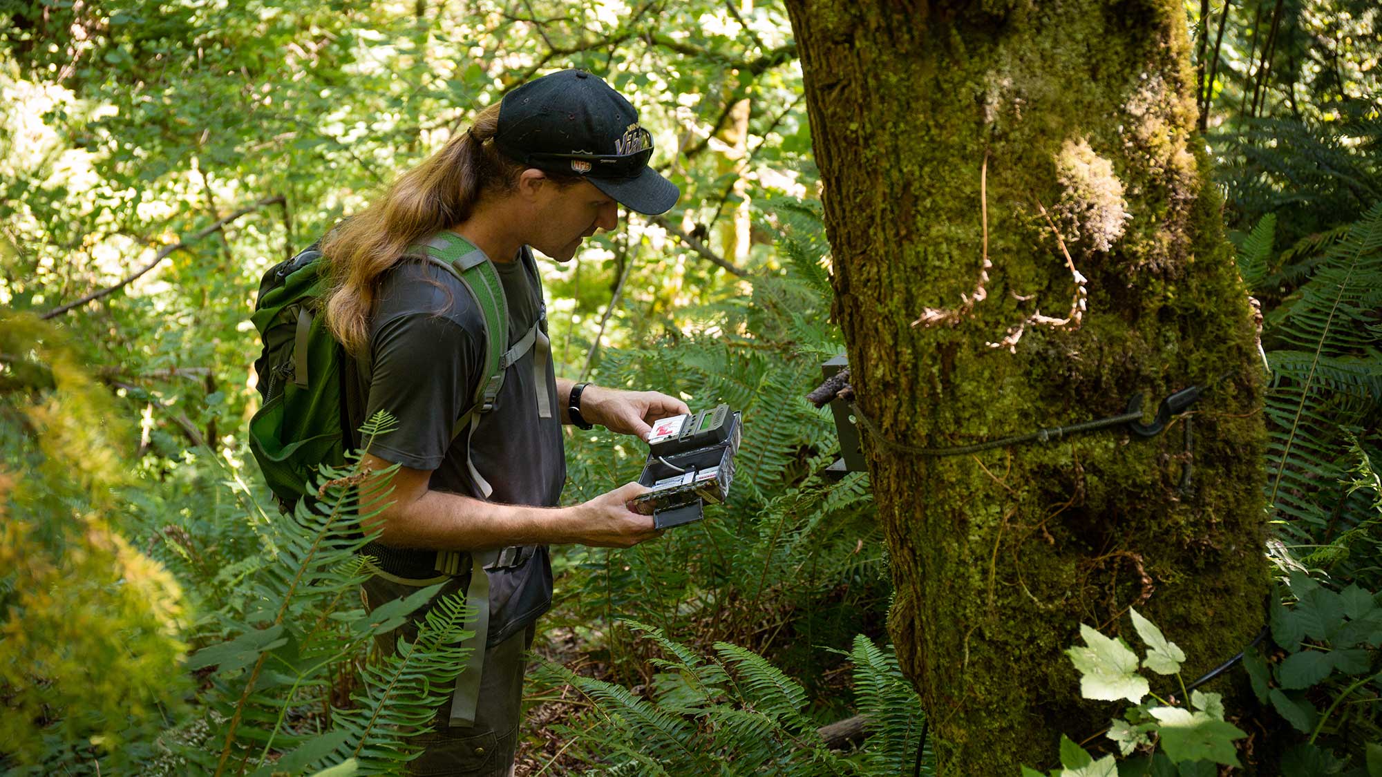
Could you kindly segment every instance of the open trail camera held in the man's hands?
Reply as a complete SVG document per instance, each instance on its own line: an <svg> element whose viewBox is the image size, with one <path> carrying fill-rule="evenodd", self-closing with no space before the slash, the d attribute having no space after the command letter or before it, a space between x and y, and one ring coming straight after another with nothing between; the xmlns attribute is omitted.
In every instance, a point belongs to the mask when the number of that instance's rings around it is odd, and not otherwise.
<svg viewBox="0 0 1382 777"><path fill-rule="evenodd" d="M738 449L739 412L730 405L655 422L638 477L652 491L636 498L634 509L652 516L656 528L701 520L705 502L730 496Z"/></svg>

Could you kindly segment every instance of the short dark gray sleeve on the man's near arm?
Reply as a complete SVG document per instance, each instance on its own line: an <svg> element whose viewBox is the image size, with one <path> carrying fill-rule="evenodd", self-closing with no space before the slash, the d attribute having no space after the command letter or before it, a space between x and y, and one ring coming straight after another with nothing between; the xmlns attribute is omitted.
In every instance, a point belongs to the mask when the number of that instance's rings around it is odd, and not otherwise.
<svg viewBox="0 0 1382 777"><path fill-rule="evenodd" d="M474 398L477 337L455 319L405 312L375 328L365 418L379 411L397 427L375 437L369 452L417 470L435 470L452 442L452 426Z"/></svg>

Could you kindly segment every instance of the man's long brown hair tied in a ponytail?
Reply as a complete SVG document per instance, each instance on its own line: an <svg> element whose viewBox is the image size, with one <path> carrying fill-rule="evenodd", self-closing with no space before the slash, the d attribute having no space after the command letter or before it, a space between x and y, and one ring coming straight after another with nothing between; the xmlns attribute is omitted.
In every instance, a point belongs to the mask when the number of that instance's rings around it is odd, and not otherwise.
<svg viewBox="0 0 1382 777"><path fill-rule="evenodd" d="M409 245L464 221L481 199L514 191L525 167L491 142L498 127L495 104L475 116L470 130L455 134L322 241L322 254L330 261L326 325L347 353L359 354L369 346L379 278L398 264ZM567 176L547 177L557 185L572 182Z"/></svg>

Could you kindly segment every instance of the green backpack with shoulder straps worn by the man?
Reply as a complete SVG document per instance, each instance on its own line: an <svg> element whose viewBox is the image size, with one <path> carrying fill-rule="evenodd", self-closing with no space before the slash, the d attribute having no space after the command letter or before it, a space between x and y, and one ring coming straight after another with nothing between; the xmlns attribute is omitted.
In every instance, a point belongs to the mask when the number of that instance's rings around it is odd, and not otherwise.
<svg viewBox="0 0 1382 777"><path fill-rule="evenodd" d="M493 408L509 366L535 344L547 346L546 310L543 307L522 340L503 351L496 347L496 340L509 340L509 303L499 274L485 253L451 231L409 246L409 253L459 278L484 312L486 379L478 382L474 402L452 427L452 438L466 433L468 445L468 433L480 423L481 415ZM250 419L250 451L285 510L303 496L314 495L310 484L319 466L346 463L346 452L355 447L351 416L363 412L355 386L354 359L332 337L321 315L322 297L328 290L326 265L321 250L312 245L269 268L260 282L250 317L264 346L254 361L264 402ZM495 333L502 335L496 339ZM546 371L546 348L540 355L543 358L533 359L535 369ZM545 383L545 376L546 372L539 384ZM538 395L539 412L550 418L546 393L538 391ZM489 496L492 489L474 465L470 474Z"/></svg>

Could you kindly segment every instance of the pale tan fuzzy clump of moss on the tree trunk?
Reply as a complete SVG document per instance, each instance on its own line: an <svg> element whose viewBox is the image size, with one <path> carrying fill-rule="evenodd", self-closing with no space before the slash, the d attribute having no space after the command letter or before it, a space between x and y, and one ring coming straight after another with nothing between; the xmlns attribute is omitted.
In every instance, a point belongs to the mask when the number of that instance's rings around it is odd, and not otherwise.
<svg viewBox="0 0 1382 777"><path fill-rule="evenodd" d="M1113 162L1099 156L1085 138L1067 140L1056 153L1056 180L1061 194L1054 212L1066 242L1107 253L1130 218Z"/></svg>

